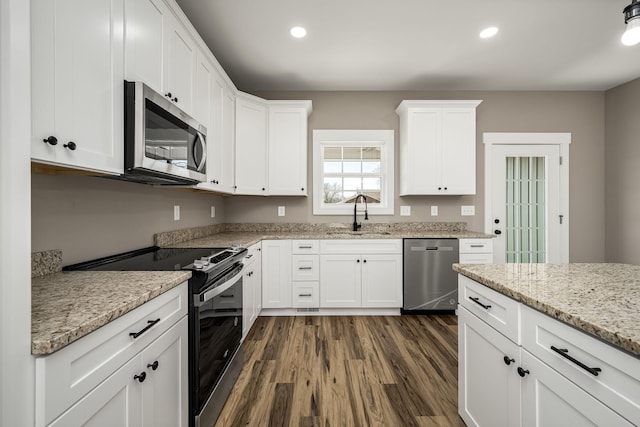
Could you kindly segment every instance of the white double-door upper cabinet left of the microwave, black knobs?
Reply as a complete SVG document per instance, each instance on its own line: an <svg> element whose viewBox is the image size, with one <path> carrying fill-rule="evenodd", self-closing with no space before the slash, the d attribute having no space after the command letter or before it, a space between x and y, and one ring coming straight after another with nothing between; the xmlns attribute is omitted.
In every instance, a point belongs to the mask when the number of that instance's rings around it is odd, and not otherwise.
<svg viewBox="0 0 640 427"><path fill-rule="evenodd" d="M123 172L124 0L34 0L36 162Z"/></svg>

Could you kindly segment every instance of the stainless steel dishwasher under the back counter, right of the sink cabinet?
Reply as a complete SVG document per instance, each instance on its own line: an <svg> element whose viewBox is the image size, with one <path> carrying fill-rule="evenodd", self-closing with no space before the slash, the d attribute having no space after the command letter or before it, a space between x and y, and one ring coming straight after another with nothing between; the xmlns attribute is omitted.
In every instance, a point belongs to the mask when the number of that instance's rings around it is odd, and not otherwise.
<svg viewBox="0 0 640 427"><path fill-rule="evenodd" d="M403 311L455 310L458 239L404 239Z"/></svg>

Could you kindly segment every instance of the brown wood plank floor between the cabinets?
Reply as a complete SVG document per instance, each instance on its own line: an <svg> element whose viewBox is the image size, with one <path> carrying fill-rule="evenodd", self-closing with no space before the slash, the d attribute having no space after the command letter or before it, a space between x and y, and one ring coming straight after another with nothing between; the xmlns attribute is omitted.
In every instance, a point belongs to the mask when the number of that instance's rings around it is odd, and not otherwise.
<svg viewBox="0 0 640 427"><path fill-rule="evenodd" d="M457 318L259 317L215 427L464 426Z"/></svg>

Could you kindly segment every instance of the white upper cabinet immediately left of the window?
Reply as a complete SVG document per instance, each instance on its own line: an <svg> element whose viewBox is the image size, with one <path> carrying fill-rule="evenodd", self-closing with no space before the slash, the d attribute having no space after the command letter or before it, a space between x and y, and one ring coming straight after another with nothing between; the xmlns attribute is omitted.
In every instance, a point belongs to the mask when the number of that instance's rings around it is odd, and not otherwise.
<svg viewBox="0 0 640 427"><path fill-rule="evenodd" d="M269 194L307 195L311 101L269 101Z"/></svg>

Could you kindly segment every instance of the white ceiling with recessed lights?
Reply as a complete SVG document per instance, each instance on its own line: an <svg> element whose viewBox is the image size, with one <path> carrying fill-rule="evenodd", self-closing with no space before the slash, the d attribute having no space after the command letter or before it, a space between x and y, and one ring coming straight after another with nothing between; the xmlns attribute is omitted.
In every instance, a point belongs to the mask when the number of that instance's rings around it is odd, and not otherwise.
<svg viewBox="0 0 640 427"><path fill-rule="evenodd" d="M245 91L606 90L640 77L640 45L620 43L631 0L177 2ZM480 39L490 25L498 35Z"/></svg>

